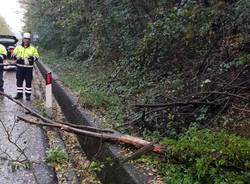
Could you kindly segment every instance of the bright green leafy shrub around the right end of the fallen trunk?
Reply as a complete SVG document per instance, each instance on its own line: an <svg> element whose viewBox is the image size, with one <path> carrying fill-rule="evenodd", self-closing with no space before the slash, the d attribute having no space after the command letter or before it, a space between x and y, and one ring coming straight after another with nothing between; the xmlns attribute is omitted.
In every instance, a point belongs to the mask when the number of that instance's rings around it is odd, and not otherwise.
<svg viewBox="0 0 250 184"><path fill-rule="evenodd" d="M190 128L177 138L165 138L164 158L143 157L168 184L247 184L250 181L250 141L225 132Z"/></svg>

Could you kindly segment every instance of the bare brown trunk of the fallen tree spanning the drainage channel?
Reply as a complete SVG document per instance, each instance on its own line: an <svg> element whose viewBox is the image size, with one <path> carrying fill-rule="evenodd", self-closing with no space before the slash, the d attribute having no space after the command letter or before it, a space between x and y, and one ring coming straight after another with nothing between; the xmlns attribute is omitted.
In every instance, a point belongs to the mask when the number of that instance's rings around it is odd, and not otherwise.
<svg viewBox="0 0 250 184"><path fill-rule="evenodd" d="M163 149L163 147L161 147L160 145L142 140L142 139L137 138L137 137L132 137L129 135L88 132L85 130L75 129L75 128L72 128L68 125L64 125L64 124L59 125L59 124L49 124L49 123L43 123L43 122L36 122L36 121L32 121L32 120L29 120L27 118L20 117L20 116L17 116L17 118L23 122L33 124L36 126L48 126L48 127L59 128L61 130L75 133L78 135L97 137L97 138L102 139L103 141L115 141L115 142L121 142L121 143L127 143L130 145L134 145L135 147L140 147L140 149L137 150L135 153L133 153L132 155L128 156L125 159L122 159L121 163L126 163L130 160L136 160L141 155L143 155L149 151L154 151L156 153L161 153L161 154L167 153L167 150ZM170 150L171 150L171 147L170 147ZM189 159L190 157L182 157L181 156L182 154L185 154L185 151L183 151L183 152L177 151L175 154L173 154L173 153L174 152L171 151L171 153L166 154L166 155L168 155L166 158L168 158L169 160L172 160L172 162L174 162L174 163L189 164L189 163L193 162L193 160L190 161L190 159ZM224 156L225 156L224 154L221 154L220 152L214 152L213 155L215 155L215 157L214 157L214 160L212 160L211 163L209 164L211 166L217 166L216 162L218 162L221 158L224 158ZM194 156L194 155L191 155L191 156ZM198 156L199 155L197 154L195 157L198 157ZM195 164L195 162L193 164ZM220 164L220 167L232 169L232 170L237 170L237 171L247 171L249 168L249 166L243 167L240 163L238 164L238 163L231 163L231 162L225 163L225 164Z"/></svg>

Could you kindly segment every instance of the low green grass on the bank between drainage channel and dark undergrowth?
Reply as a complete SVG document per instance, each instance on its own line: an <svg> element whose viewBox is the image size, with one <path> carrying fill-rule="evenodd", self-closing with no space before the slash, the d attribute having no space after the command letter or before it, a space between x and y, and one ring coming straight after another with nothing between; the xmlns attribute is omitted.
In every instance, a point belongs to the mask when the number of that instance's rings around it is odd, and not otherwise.
<svg viewBox="0 0 250 184"><path fill-rule="evenodd" d="M83 107L102 115L108 127L116 127L124 122L128 114L132 113L127 107L140 93L139 88L144 87L143 81L137 80L137 74L134 74L124 76L123 81L108 88L112 68L107 67L108 70L104 70L86 62L73 61L71 58L58 58L54 52L46 53L42 61L58 74L65 87L79 97L79 103Z"/></svg>

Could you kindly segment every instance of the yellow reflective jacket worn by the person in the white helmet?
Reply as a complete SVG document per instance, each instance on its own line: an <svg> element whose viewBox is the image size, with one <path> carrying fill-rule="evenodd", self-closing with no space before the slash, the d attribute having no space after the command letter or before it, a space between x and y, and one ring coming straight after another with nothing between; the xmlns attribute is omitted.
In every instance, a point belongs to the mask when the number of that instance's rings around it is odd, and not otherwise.
<svg viewBox="0 0 250 184"><path fill-rule="evenodd" d="M28 47L19 45L14 49L13 54L17 58L17 66L28 68L32 68L34 61L39 57L37 49L31 45ZM29 60L30 57L32 57L32 62Z"/></svg>

